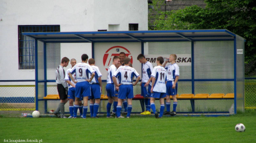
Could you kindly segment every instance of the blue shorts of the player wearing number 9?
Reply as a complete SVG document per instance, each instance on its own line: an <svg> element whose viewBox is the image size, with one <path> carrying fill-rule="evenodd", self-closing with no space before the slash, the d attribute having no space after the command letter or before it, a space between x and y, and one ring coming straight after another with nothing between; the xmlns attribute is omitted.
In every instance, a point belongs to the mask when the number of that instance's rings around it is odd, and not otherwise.
<svg viewBox="0 0 256 143"><path fill-rule="evenodd" d="M91 96L90 83L87 81L76 83L75 97L83 98Z"/></svg>

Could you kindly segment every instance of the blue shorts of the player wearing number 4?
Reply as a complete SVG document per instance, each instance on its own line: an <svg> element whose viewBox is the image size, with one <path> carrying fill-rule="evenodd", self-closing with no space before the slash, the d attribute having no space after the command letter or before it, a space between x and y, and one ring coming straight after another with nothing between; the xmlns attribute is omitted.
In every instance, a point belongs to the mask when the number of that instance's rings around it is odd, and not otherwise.
<svg viewBox="0 0 256 143"><path fill-rule="evenodd" d="M122 84L119 86L118 99L132 99L133 98L133 85Z"/></svg>

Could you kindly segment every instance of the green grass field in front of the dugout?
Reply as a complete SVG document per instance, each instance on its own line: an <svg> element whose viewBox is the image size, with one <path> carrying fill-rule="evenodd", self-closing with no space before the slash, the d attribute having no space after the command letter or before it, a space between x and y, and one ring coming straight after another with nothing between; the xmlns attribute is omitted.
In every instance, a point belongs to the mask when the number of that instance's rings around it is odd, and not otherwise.
<svg viewBox="0 0 256 143"><path fill-rule="evenodd" d="M245 132L234 127L243 123ZM256 111L231 116L131 118L0 117L0 142L256 142Z"/></svg>

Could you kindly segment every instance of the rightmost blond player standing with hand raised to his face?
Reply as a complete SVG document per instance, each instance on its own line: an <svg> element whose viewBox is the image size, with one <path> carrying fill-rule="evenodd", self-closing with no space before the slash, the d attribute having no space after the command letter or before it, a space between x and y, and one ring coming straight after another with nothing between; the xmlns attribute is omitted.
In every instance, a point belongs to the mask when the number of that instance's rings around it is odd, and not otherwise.
<svg viewBox="0 0 256 143"><path fill-rule="evenodd" d="M168 61L165 61L163 66L166 65L167 62L170 62L165 69L167 70L167 83L166 83L166 111L164 115L176 115L176 107L177 107L177 91L178 91L178 79L180 76L180 68L176 64L177 56L176 54L171 54ZM170 112L170 96L173 96L173 111Z"/></svg>

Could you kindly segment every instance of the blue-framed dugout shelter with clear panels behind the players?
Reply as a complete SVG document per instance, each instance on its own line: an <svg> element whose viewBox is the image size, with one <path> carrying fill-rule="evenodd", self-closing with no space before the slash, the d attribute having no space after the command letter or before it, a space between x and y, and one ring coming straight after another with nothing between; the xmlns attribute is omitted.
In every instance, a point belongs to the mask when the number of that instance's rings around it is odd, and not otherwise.
<svg viewBox="0 0 256 143"><path fill-rule="evenodd" d="M108 68L111 56L117 55L119 50L129 53L126 56L130 55L134 63L138 63L137 55L140 53L158 56L181 55L180 63L177 60L180 66L178 94L233 93L234 97L230 100L234 107L233 113L244 111L245 39L228 30L42 32L23 35L35 39L35 103L36 110L40 112L48 111L48 102L43 98L49 94L49 85L55 84L55 77L49 76L51 70L47 67L49 43L91 43L92 58L100 61L97 66L102 68ZM81 54L84 53L79 53L79 56ZM154 62L154 58L151 60ZM80 59L77 60L79 61ZM135 64L135 68L139 68L141 74L141 64ZM102 75L104 82L105 75ZM219 98L208 107L207 102L202 103L199 98L197 103L195 98L190 100L194 108L191 106L191 109L181 112L223 111L217 104L223 99ZM199 107L202 104L204 107ZM231 105L229 103L228 108Z"/></svg>

